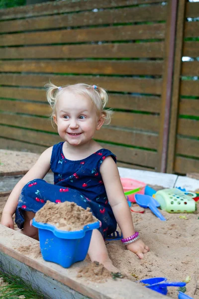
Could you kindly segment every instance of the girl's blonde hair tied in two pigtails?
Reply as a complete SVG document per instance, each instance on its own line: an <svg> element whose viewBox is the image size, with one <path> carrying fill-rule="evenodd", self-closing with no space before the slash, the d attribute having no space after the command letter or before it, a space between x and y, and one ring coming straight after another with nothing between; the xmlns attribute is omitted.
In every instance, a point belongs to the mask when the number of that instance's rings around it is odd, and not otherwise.
<svg viewBox="0 0 199 299"><path fill-rule="evenodd" d="M111 116L113 114L113 111L111 109L105 109L107 103L108 103L108 94L105 91L105 89L98 87L96 85L88 85L85 83L78 83L73 85L65 85L62 87L58 87L54 84L47 83L45 85L47 88L46 97L48 100L48 103L50 104L52 108L52 114L51 114L51 121L53 121L53 115L56 113L56 106L57 101L59 99L59 96L65 92L74 92L79 95L86 96L87 98L90 98L93 104L96 107L97 114L102 116L104 119L104 125L109 125L111 121Z"/></svg>

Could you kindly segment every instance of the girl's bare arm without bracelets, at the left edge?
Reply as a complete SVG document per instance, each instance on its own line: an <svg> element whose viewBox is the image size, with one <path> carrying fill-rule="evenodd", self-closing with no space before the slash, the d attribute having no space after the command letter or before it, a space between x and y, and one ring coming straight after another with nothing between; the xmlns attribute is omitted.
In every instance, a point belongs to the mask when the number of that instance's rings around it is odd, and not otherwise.
<svg viewBox="0 0 199 299"><path fill-rule="evenodd" d="M12 192L10 193L7 202L3 208L1 223L3 224L6 216L12 216L15 212L18 198L21 193L23 186L29 181L35 178L43 178L50 169L50 159L51 159L52 147L46 149L38 158L37 162L32 166L32 168L20 179L20 181L15 185ZM5 224L4 224L5 225Z"/></svg>

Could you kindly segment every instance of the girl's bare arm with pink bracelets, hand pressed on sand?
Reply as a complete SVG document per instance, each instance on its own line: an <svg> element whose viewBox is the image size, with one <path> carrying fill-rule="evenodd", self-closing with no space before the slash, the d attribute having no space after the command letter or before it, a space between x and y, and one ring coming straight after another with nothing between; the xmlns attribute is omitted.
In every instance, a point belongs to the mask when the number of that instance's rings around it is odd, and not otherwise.
<svg viewBox="0 0 199 299"><path fill-rule="evenodd" d="M115 219L122 231L123 238L128 238L135 233L131 212L121 185L119 172L113 159L108 156L100 166L100 173L106 189L109 204ZM139 239L135 243L127 245L127 248L143 258L149 248Z"/></svg>

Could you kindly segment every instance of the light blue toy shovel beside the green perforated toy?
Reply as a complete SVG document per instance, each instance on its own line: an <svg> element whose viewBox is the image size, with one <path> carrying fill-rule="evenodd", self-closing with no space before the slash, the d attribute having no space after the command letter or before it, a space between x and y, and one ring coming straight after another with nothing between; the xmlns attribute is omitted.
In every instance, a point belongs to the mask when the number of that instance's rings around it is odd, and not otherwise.
<svg viewBox="0 0 199 299"><path fill-rule="evenodd" d="M157 207L160 206L159 202L152 196L135 194L136 203L143 208L149 208L160 220L166 221L165 217L160 213Z"/></svg>

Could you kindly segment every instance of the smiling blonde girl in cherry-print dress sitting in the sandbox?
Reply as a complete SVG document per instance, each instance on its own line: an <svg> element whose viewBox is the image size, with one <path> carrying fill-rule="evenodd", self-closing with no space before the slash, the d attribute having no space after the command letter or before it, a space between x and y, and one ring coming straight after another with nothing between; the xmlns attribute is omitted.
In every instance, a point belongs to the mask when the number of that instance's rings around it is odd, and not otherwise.
<svg viewBox="0 0 199 299"><path fill-rule="evenodd" d="M88 254L91 261L117 272L104 243L117 223L128 250L142 259L149 248L135 233L115 155L92 139L96 130L110 123L112 112L104 109L108 95L96 85L57 87L50 83L47 88L52 119L64 142L46 149L16 184L3 209L1 224L13 229L15 213L21 232L38 239L38 231L30 226L30 220L46 200L56 203L67 200L83 208L90 207L101 227L93 231ZM49 169L54 172L54 185L43 180Z"/></svg>

